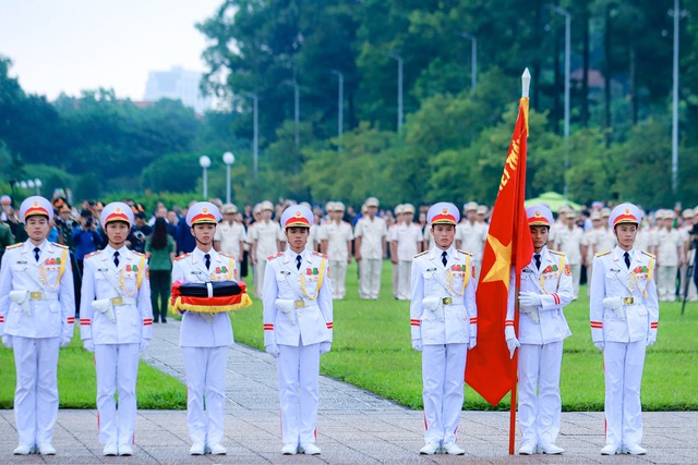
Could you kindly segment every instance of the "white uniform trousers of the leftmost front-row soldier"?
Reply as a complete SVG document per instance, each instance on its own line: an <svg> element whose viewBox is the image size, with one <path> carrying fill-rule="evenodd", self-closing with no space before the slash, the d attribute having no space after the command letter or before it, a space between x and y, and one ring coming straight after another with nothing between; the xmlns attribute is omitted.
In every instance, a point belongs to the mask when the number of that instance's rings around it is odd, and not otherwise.
<svg viewBox="0 0 698 465"><path fill-rule="evenodd" d="M14 419L21 445L50 443L58 417L60 338L12 336L17 384Z"/></svg>

